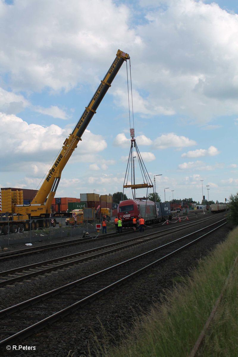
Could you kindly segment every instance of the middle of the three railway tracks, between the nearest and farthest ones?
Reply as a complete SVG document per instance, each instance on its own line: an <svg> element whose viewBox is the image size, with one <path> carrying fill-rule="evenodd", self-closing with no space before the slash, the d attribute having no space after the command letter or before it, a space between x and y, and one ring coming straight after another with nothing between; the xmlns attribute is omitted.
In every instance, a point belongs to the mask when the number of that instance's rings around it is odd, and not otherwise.
<svg viewBox="0 0 238 357"><path fill-rule="evenodd" d="M177 234L179 231L191 228L199 223L201 222L196 221L189 224L187 223L176 228L173 227L159 232L151 232L143 236L127 238L123 241L111 243L101 247L95 247L90 250L2 271L0 272L0 287L29 280L32 277L42 276L52 271L58 272L63 268L81 264L85 261L96 259L102 257L103 255L112 254L119 250L121 251L123 249L132 248L139 244L148 243L151 240L165 237L168 234Z"/></svg>

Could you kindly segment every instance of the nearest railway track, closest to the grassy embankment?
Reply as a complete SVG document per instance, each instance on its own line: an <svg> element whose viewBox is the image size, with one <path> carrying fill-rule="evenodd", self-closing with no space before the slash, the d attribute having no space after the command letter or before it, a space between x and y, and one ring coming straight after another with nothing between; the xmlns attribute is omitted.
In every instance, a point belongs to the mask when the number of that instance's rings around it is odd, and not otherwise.
<svg viewBox="0 0 238 357"><path fill-rule="evenodd" d="M169 259L226 224L226 219L0 311L0 346L30 336L99 296Z"/></svg>

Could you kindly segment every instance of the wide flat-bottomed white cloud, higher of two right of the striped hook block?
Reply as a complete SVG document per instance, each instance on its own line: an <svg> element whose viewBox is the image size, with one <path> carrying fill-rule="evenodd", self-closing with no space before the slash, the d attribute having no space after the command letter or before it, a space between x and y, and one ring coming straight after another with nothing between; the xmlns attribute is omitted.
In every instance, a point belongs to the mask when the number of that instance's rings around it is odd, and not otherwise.
<svg viewBox="0 0 238 357"><path fill-rule="evenodd" d="M192 145L197 145L196 141L173 133L163 134L160 137L157 137L153 142L153 148L155 149L166 149L168 147L182 148Z"/></svg>

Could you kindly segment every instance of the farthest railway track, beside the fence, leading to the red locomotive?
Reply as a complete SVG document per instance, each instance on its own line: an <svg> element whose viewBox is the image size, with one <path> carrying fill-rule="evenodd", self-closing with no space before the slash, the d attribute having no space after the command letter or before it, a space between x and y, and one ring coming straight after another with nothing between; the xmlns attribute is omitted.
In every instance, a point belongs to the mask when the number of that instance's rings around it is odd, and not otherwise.
<svg viewBox="0 0 238 357"><path fill-rule="evenodd" d="M192 222L193 220L196 221L197 223L201 223L206 220L210 220L210 219L214 219L214 218L215 218L214 216L212 216L212 217L211 216L206 216L206 217L202 216L201 218L192 218L192 220L190 219L189 223ZM181 221L181 223L183 221L185 221L185 220L183 219ZM164 223L162 225L164 225ZM159 225L154 225L153 228L161 227L162 225L160 223ZM151 227L149 227L149 228L151 228ZM167 228L167 229L173 229L173 228ZM125 231L123 231L123 233L125 234ZM87 238L87 237L77 238L77 239L73 239L73 240L69 240L69 241L65 241L65 242L49 243L49 244L42 245L42 246L27 247L27 248L22 248L19 250L14 250L14 251L0 252L0 261L4 261L7 258L15 258L15 257L20 257L20 256L25 256L25 255L30 255L30 254L37 254L37 253L47 252L52 249L65 248L68 246L73 246L73 245L77 245L77 244L81 244L81 243L85 243L85 242L91 242L92 239L96 239L96 240L103 239L104 240L105 238L121 236L121 235L123 235L123 233L120 233L118 235L116 232L112 232L112 233L107 233L107 234L99 235L99 236L95 235L90 238ZM133 231L127 230L126 234L133 234Z"/></svg>

